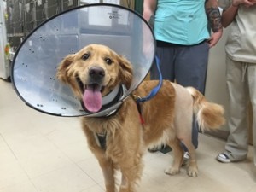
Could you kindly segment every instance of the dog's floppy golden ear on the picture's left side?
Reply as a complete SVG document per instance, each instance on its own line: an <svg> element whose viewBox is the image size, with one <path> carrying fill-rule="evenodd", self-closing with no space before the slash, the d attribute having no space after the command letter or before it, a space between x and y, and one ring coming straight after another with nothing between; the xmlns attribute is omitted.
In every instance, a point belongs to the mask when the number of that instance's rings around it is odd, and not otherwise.
<svg viewBox="0 0 256 192"><path fill-rule="evenodd" d="M73 57L74 55L67 55L57 68L57 79L61 80L63 83L68 82L67 69L73 62Z"/></svg>

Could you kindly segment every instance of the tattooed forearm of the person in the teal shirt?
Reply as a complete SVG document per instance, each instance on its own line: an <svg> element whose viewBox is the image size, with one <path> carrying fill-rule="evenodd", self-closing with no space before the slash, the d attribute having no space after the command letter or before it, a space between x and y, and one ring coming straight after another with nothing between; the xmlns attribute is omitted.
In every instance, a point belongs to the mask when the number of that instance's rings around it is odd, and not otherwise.
<svg viewBox="0 0 256 192"><path fill-rule="evenodd" d="M219 32L220 30L222 30L221 15L219 13L218 7L207 8L206 12L207 12L208 22L212 28L212 32Z"/></svg>

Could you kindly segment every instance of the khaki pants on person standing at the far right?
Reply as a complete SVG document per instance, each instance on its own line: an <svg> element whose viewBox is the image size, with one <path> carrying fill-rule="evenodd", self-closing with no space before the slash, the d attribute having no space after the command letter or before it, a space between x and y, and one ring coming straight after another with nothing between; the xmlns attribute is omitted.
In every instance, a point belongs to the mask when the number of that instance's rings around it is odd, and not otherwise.
<svg viewBox="0 0 256 192"><path fill-rule="evenodd" d="M230 160L244 160L248 151L248 103L252 102L256 117L256 63L226 58L226 78L230 96L230 135L225 149ZM256 118L253 118L253 152L256 166Z"/></svg>

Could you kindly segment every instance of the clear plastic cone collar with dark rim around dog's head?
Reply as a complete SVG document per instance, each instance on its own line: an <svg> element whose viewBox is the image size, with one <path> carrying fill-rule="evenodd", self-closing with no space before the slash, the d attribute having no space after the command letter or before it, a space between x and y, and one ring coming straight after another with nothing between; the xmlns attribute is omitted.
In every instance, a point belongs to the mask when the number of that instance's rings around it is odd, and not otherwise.
<svg viewBox="0 0 256 192"><path fill-rule="evenodd" d="M72 90L56 79L62 59L88 44L104 44L131 61L133 81L123 96L88 113ZM147 51L145 51L147 49ZM140 15L113 4L89 4L46 20L20 45L12 67L15 90L26 104L59 116L100 116L117 108L146 77L154 60L154 35Z"/></svg>

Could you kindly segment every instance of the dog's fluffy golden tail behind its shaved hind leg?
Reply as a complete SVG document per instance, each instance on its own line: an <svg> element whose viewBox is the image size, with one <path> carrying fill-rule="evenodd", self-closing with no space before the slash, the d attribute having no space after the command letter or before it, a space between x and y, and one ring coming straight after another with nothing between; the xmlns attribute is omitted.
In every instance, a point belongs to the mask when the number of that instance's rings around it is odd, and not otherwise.
<svg viewBox="0 0 256 192"><path fill-rule="evenodd" d="M213 102L207 102L205 96L193 87L187 87L194 99L193 109L201 131L207 129L218 129L224 125L224 108Z"/></svg>

